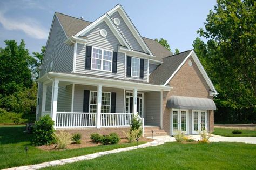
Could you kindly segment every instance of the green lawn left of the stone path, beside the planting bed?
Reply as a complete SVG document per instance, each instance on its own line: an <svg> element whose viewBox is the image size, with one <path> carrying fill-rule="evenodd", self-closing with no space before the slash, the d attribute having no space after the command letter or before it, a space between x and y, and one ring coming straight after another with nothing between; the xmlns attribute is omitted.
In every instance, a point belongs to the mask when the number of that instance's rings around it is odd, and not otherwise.
<svg viewBox="0 0 256 170"><path fill-rule="evenodd" d="M65 149L63 151L42 151L31 146L32 134L25 134L24 125L0 126L0 169L38 164L45 161L76 157L78 155L91 154L116 148L134 146L131 144L100 145L79 149ZM142 143L142 142L140 142ZM25 160L24 148L28 146L28 159Z"/></svg>

